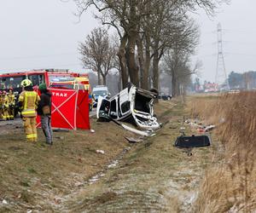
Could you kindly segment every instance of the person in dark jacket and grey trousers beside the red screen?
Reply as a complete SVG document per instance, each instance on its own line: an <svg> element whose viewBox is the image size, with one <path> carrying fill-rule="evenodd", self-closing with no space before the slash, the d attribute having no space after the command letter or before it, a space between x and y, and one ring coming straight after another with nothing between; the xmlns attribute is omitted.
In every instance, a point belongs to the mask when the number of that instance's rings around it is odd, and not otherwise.
<svg viewBox="0 0 256 213"><path fill-rule="evenodd" d="M38 103L38 115L41 118L42 130L44 132L46 143L53 144L53 133L51 130L51 94L46 88L45 83L41 83L38 87L41 92L40 101Z"/></svg>

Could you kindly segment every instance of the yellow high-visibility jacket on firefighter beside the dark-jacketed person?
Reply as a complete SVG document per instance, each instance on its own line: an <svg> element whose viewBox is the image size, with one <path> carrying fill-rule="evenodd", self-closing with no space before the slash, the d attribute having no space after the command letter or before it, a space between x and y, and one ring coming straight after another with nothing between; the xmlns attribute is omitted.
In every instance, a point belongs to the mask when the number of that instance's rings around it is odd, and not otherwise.
<svg viewBox="0 0 256 213"><path fill-rule="evenodd" d="M23 91L20 93L19 102L22 103L20 108L21 115L23 117L35 117L37 116L36 109L38 107L38 101L40 101L39 95L35 91Z"/></svg>

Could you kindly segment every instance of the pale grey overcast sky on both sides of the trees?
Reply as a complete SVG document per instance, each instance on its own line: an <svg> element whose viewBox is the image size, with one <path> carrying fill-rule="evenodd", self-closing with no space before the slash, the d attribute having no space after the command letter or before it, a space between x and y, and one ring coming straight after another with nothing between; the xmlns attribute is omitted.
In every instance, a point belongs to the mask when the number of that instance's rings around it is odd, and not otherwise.
<svg viewBox="0 0 256 213"><path fill-rule="evenodd" d="M224 33L226 71L256 70L255 0L232 0L209 19L199 12L201 78L213 81L217 61L217 24ZM37 68L81 70L78 43L98 25L88 12L78 23L75 4L61 0L0 1L0 72Z"/></svg>

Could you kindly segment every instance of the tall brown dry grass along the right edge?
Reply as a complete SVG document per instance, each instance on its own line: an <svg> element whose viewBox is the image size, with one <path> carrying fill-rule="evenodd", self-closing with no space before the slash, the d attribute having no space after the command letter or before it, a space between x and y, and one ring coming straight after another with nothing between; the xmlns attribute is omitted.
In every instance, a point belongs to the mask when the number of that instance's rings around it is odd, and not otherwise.
<svg viewBox="0 0 256 213"><path fill-rule="evenodd" d="M216 124L216 139L224 157L207 172L196 212L256 210L256 93L194 99L189 112L206 124Z"/></svg>

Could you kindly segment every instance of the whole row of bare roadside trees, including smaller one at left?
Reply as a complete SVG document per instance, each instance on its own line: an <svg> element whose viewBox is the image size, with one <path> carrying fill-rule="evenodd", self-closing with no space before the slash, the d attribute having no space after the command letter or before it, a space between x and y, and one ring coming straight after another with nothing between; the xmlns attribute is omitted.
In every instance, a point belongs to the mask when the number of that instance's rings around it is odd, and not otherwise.
<svg viewBox="0 0 256 213"><path fill-rule="evenodd" d="M80 43L84 66L102 75L113 67L118 68L121 82L128 81L149 89L159 89L160 65L172 76L172 95L179 95L180 88L199 68L191 68L190 55L198 43L199 31L189 13L201 8L213 14L225 0L74 0L79 15L94 6L96 18L103 25L113 26L117 32L110 42L108 33L95 29ZM119 38L119 39L118 39ZM108 41L108 42L107 42ZM116 60L117 55L118 61ZM100 76L100 75L98 75ZM99 79L100 80L100 79Z"/></svg>

